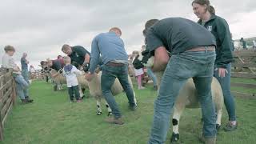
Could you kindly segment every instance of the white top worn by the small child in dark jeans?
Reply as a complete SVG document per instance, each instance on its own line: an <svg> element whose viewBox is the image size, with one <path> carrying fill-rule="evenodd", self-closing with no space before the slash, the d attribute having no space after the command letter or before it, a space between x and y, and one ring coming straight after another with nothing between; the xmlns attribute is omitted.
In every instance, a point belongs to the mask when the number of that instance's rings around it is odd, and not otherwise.
<svg viewBox="0 0 256 144"><path fill-rule="evenodd" d="M78 78L76 74L82 74L75 66L72 66L72 69L69 72L63 70L63 75L66 77L67 87L78 86Z"/></svg>

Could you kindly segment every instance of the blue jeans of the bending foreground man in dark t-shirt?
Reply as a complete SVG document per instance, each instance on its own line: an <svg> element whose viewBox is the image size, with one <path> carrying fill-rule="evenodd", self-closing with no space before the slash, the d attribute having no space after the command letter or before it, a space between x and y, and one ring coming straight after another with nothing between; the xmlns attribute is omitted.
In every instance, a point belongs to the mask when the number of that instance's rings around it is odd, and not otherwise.
<svg viewBox="0 0 256 144"><path fill-rule="evenodd" d="M171 56L154 102L154 120L149 143L164 143L170 126L174 102L188 78L194 79L202 106L203 135L216 136L216 116L211 96L215 51L183 52Z"/></svg>

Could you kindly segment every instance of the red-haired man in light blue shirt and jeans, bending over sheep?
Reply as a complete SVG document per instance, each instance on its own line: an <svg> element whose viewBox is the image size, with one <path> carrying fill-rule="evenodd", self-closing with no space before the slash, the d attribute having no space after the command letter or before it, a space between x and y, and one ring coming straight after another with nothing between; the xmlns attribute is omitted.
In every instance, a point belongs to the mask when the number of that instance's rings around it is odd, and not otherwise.
<svg viewBox="0 0 256 144"><path fill-rule="evenodd" d="M86 74L86 80L91 81L101 54L103 63L101 66L102 94L114 114L114 118L108 118L106 122L118 125L122 125L124 122L122 121L122 114L120 113L118 104L115 102L111 92L111 86L115 78L118 78L123 90L126 92L130 110L136 109L134 90L128 81L128 54L126 54L124 42L120 38L121 35L122 31L118 27L113 27L108 33L98 34L94 38L91 46L90 69Z"/></svg>

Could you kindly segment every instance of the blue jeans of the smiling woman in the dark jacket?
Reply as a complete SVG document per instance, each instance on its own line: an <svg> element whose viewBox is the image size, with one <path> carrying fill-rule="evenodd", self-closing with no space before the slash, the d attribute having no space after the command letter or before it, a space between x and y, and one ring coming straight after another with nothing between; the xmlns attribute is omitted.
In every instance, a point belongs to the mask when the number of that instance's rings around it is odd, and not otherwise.
<svg viewBox="0 0 256 144"><path fill-rule="evenodd" d="M222 93L224 97L224 104L226 106L227 113L229 114L229 120L235 121L235 104L234 96L230 92L230 77L231 77L231 63L226 66L227 74L226 77L218 77L218 70L215 70L217 66L214 66L214 77L218 79L218 82L222 86Z"/></svg>

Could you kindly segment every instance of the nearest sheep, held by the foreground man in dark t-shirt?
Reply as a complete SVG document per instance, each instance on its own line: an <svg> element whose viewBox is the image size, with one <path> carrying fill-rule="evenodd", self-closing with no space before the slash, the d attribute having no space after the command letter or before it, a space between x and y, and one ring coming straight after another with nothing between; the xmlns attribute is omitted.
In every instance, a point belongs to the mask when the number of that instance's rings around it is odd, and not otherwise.
<svg viewBox="0 0 256 144"><path fill-rule="evenodd" d="M143 57L141 56L141 58L139 59L142 60L144 66L146 67L152 67L154 64L154 56L150 56L150 54L143 54ZM159 86L162 75L163 75L163 71L157 72L155 74L158 78L158 86ZM216 128L218 130L221 126L221 119L222 119L223 94L222 94L222 87L220 86L216 78L213 78L212 80L211 93L214 99L215 109L217 113ZM178 98L174 104L174 114L172 119L173 133L172 133L170 142L178 142L178 139L179 139L178 124L179 124L179 119L182 115L183 110L185 108L194 109L199 107L200 107L200 104L198 101L196 88L194 86L193 79L190 78L180 90Z"/></svg>

